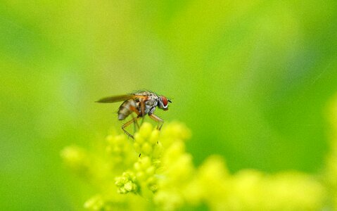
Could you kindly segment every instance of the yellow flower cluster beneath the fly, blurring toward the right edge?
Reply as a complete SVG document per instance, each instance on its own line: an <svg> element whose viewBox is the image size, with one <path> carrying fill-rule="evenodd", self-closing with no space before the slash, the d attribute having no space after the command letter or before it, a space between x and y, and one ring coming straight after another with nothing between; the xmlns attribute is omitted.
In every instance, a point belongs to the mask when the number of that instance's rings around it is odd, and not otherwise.
<svg viewBox="0 0 337 211"><path fill-rule="evenodd" d="M195 167L185 150L191 132L178 122L165 124L160 132L145 122L134 140L113 132L105 153L70 146L61 156L101 190L84 203L89 210L336 210L337 103L333 108L332 151L326 170L318 175L257 170L230 174L219 155Z"/></svg>

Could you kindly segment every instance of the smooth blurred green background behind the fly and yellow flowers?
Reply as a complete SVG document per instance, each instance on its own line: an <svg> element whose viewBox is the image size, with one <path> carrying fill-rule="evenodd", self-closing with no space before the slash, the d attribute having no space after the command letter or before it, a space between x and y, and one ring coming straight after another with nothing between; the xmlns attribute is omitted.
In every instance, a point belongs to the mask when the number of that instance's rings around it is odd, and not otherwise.
<svg viewBox="0 0 337 211"><path fill-rule="evenodd" d="M79 210L61 162L120 127L98 98L150 89L199 165L319 172L337 92L336 1L1 1L1 210ZM165 124L164 124L165 127Z"/></svg>

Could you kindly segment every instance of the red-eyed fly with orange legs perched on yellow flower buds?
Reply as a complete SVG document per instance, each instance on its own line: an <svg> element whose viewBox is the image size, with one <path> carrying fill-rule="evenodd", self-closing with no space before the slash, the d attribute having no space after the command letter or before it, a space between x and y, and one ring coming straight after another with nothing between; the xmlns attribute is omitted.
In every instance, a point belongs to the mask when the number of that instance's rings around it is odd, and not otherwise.
<svg viewBox="0 0 337 211"><path fill-rule="evenodd" d="M137 121L141 117L145 117L148 115L152 120L158 122L157 129L161 129L164 124L164 120L160 119L160 117L154 115L155 108L158 107L163 110L168 110L168 103L172 103L170 99L166 98L163 95L155 94L151 91L139 91L131 94L117 95L117 96L108 96L106 98L101 98L96 101L97 103L116 103L124 101L120 108L118 109L118 120L125 120L126 117L131 115L132 113L136 113L136 117L133 117L132 120L129 120L125 124L122 125L122 130L132 139L134 136L129 134L125 129L130 124L134 123L138 127Z"/></svg>

